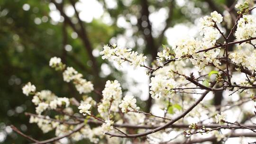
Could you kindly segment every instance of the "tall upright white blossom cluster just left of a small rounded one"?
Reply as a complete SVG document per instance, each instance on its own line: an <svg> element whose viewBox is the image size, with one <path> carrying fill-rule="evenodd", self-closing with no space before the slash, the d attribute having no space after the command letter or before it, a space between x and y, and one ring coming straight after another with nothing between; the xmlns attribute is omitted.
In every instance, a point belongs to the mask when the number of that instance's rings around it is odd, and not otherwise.
<svg viewBox="0 0 256 144"><path fill-rule="evenodd" d="M101 117L108 117L109 110L113 112L119 111L119 103L122 97L120 83L115 81L107 81L104 90L102 91L103 99L98 106L98 112Z"/></svg>

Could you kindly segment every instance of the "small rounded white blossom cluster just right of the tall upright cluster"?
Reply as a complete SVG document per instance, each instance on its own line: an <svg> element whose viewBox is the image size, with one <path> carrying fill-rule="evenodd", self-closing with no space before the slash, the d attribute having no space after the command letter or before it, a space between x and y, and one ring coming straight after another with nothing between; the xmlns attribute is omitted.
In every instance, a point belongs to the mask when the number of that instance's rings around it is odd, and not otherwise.
<svg viewBox="0 0 256 144"><path fill-rule="evenodd" d="M121 108L123 113L127 113L128 111L138 110L139 107L136 105L137 100L133 96L125 96L119 104L119 108Z"/></svg>

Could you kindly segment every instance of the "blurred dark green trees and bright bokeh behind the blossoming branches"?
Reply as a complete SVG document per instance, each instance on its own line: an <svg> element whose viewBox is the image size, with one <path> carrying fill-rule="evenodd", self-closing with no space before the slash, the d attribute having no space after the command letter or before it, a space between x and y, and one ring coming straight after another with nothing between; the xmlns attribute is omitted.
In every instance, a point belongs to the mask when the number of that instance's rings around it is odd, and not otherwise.
<svg viewBox="0 0 256 144"><path fill-rule="evenodd" d="M0 143L25 144L9 125L35 139L44 140L36 124L24 112L35 113L32 97L22 94L31 81L37 90L57 96L82 96L62 74L48 66L61 57L101 91L107 80L118 80L126 93L137 97L142 110L152 108L145 69L119 68L103 61L103 45L116 43L144 53L154 62L162 44L172 45L183 36L198 36L197 22L216 10L224 15L224 31L236 18L235 0L0 0ZM97 94L91 97L99 100ZM216 99L216 101L221 101ZM216 104L217 105L217 104ZM154 110L154 109L151 109ZM85 141L78 142L84 143Z"/></svg>

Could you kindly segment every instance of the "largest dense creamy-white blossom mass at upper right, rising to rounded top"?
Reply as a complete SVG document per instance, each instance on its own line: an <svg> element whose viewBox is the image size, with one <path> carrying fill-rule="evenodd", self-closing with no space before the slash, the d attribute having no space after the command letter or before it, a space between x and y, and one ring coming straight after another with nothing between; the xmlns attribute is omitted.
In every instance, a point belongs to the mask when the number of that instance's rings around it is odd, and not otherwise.
<svg viewBox="0 0 256 144"><path fill-rule="evenodd" d="M191 60L193 65L196 65L201 69L209 63L219 66L219 60L216 59L220 53L219 48L209 50L205 53L197 53L200 50L214 46L220 37L220 32L217 29L218 26L216 23L220 23L223 18L216 11L212 12L210 15L211 17L205 16L200 19L201 35L203 35L201 40L195 38L182 38L173 45L176 58L180 60L188 58ZM164 51L166 50L164 49ZM165 56L160 54L162 57L159 58L160 62L170 59L170 57L168 57L169 55L164 51L162 54L165 54Z"/></svg>

